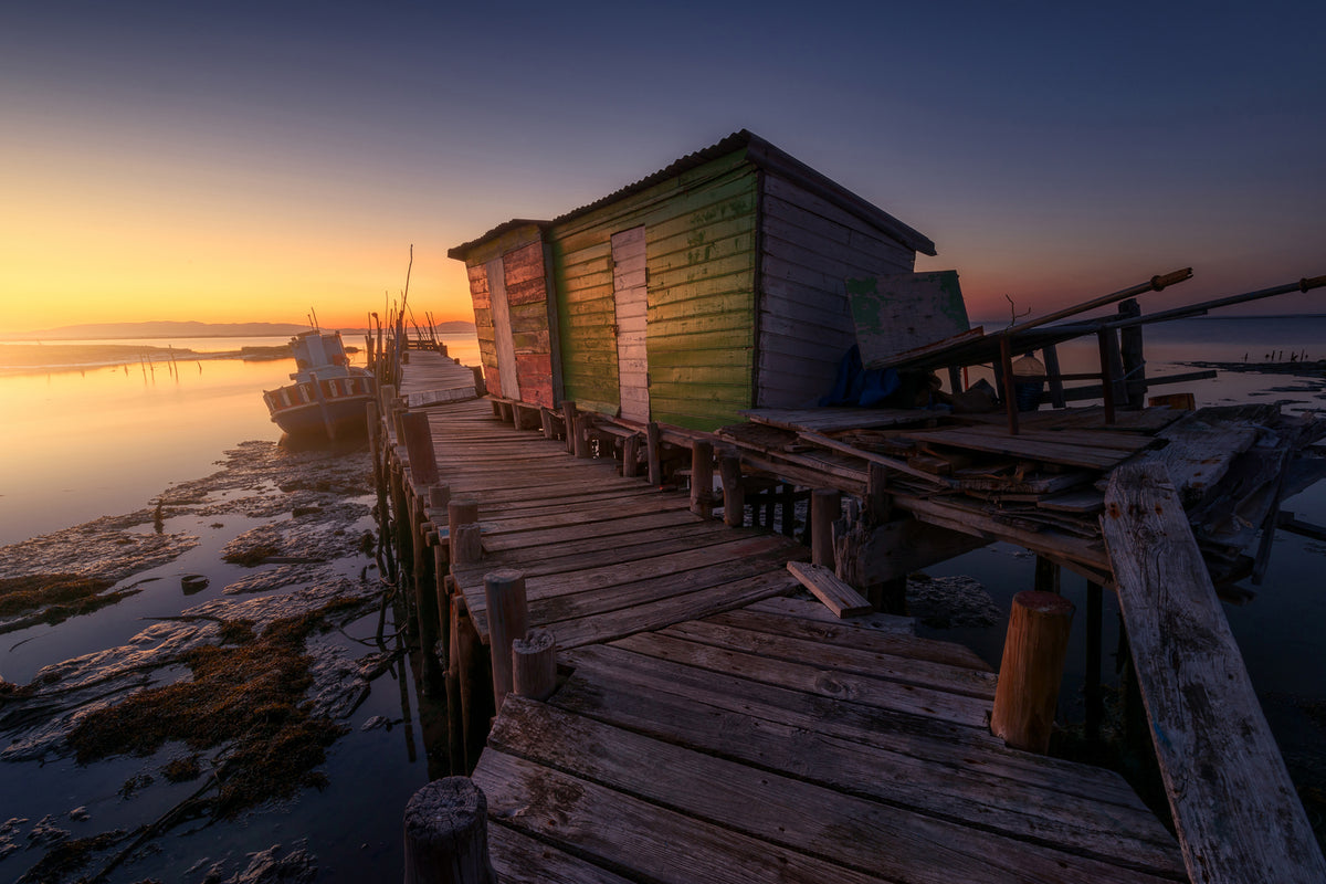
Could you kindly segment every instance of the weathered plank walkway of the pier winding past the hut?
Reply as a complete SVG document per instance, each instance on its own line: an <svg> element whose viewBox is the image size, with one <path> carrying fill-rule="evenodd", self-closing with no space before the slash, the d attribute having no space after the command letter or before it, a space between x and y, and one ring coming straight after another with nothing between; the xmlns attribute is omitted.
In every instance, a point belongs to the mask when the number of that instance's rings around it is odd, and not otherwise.
<svg viewBox="0 0 1326 884"><path fill-rule="evenodd" d="M514 567L560 648L557 692L508 696L473 771L503 881L1187 880L1122 778L989 733L972 652L792 598L804 547L487 402L426 414L479 502L484 558L452 577L480 635L483 575Z"/></svg>

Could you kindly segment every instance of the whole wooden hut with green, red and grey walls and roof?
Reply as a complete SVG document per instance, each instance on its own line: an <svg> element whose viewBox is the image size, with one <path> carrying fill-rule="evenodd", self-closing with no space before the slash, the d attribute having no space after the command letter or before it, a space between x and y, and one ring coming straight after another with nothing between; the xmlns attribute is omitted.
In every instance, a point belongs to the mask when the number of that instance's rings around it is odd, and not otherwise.
<svg viewBox="0 0 1326 884"><path fill-rule="evenodd" d="M491 394L712 429L825 395L855 343L845 281L910 273L916 252L935 245L743 130L448 254Z"/></svg>

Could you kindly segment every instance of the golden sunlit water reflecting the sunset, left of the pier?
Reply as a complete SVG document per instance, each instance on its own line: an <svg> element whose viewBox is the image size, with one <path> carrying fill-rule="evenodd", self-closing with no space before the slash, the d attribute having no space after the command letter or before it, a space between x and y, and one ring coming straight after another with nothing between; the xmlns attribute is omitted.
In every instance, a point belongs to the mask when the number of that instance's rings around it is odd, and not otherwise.
<svg viewBox="0 0 1326 884"><path fill-rule="evenodd" d="M198 353L276 346L280 338L61 341ZM475 338L444 338L476 364ZM357 343L346 339L347 346ZM362 349L362 346L361 346ZM363 354L355 357L362 364ZM276 441L263 390L289 383L293 359L176 359L0 375L0 546L98 516L150 506L168 485L213 472L236 443Z"/></svg>

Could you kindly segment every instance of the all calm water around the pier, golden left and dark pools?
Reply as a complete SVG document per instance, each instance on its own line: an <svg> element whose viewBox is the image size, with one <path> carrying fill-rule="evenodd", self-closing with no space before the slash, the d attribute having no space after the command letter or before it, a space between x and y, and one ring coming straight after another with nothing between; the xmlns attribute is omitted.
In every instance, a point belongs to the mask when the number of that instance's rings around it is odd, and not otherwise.
<svg viewBox="0 0 1326 884"><path fill-rule="evenodd" d="M247 345L284 343L280 339L249 339ZM475 338L448 338L451 354L467 364L477 363ZM1152 375L1191 371L1177 364L1185 359L1240 362L1245 353L1258 360L1272 349L1307 350L1309 358L1326 357L1326 318L1280 321L1185 321L1172 323L1163 334L1150 333L1147 341L1148 372ZM98 342L88 342L98 343ZM107 342L122 343L122 342ZM162 346L163 342L143 342ZM203 339L171 342L198 350L231 350L236 339ZM1061 359L1067 371L1094 367L1094 343L1069 345ZM172 482L204 476L213 470L227 448L248 439L276 440L280 431L268 420L261 390L285 383L293 360L274 362L202 360L178 362L178 371L162 363L155 374L134 363L121 367L24 374L0 376L0 403L7 420L0 421L0 545L41 534L103 514L118 514L147 508L152 496ZM1326 410L1322 384L1290 375L1223 372L1216 380L1181 384L1175 390L1192 390L1199 404L1231 402L1284 400L1292 411ZM1274 388L1292 388L1293 392ZM1164 392L1159 388L1154 392ZM1285 509L1299 517L1326 524L1326 482L1286 502ZM240 526L235 529L240 530ZM175 567L216 567L215 550L196 550L198 565L178 562ZM203 558L211 557L210 565ZM989 590L1000 610L1006 611L1013 594L1032 584L1033 557L1006 545L993 545L969 555L930 569L934 575L967 574ZM1253 681L1264 696L1292 693L1326 701L1326 592L1321 591L1321 574L1326 571L1326 545L1280 533L1274 545L1270 570L1254 600L1245 606L1227 606L1231 626L1244 649ZM224 580L213 580L221 586ZM1071 685L1082 677L1082 620L1085 584L1065 575L1065 594L1078 604L1074 644L1066 673L1065 704L1069 717L1081 717ZM107 647L123 641L137 628L141 616L159 614L151 592L145 592L98 615L78 618L57 631L78 634L88 647ZM195 599L196 600L196 599ZM1106 594L1106 639L1109 653L1116 639L1116 608ZM371 632L366 624L359 632ZM350 632L354 632L351 630ZM988 630L945 631L943 637L976 648L997 665L1004 624ZM12 636L11 636L12 637ZM101 641L101 644L98 644ZM34 641L15 651L11 643L0 647L0 672L17 664L34 672L44 663L64 659L62 645ZM78 651L81 652L81 651ZM49 657L49 659L44 659ZM1106 672L1111 669L1106 661ZM16 677L16 676L15 676ZM408 681L408 680L406 680ZM402 683L399 694L383 684L375 689L357 722L369 714L391 718L402 716L402 701L418 709L414 685ZM1282 708L1268 706L1282 746L1289 750L1315 733ZM1310 745L1310 744L1309 744ZM78 769L72 762L57 762L37 769L33 765L0 765L0 795L25 794L24 816L33 820L42 815L61 814L101 795L103 812L121 814L125 802L117 790L125 777L139 769L141 759L109 761ZM261 850L273 842L293 844L304 835L310 851L318 854L324 876L320 880L365 880L373 869L399 880L399 814L408 795L426 782L422 761L410 726L394 732L353 732L329 751L326 770L330 786L322 793L309 793L297 803L296 815L280 810L255 812L249 823L191 832L187 827L162 839L167 852L203 856ZM164 798L170 798L166 795ZM367 802L367 803L366 803ZM366 806L381 807L381 819L361 819ZM150 819L150 807L134 812ZM358 810L347 810L358 808ZM95 810L95 808L94 808ZM133 810L133 806L130 806ZM350 820L362 831L345 832ZM103 828L105 818L98 822ZM137 824L125 819L126 827ZM332 834L329 836L329 834ZM188 842L179 842L188 838ZM21 859L27 856L27 859ZM34 852L11 857L5 865L17 869L34 861ZM20 861L21 860L21 861ZM330 877L326 876L332 871ZM335 871L339 871L339 875ZM141 877L139 869L135 875ZM137 880L126 872L125 880ZM191 875L200 880L203 872ZM118 879L117 879L118 880ZM386 880L386 879L383 879Z"/></svg>

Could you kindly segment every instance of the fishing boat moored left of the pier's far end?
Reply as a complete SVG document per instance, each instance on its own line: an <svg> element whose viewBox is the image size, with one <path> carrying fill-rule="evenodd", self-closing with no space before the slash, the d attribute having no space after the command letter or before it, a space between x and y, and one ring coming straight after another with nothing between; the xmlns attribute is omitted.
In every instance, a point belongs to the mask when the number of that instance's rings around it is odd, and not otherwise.
<svg viewBox="0 0 1326 884"><path fill-rule="evenodd" d="M292 436L337 439L362 431L365 404L375 395L373 374L351 366L339 331L312 329L290 338L294 383L263 392L276 425Z"/></svg>

